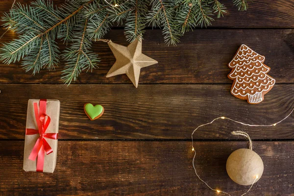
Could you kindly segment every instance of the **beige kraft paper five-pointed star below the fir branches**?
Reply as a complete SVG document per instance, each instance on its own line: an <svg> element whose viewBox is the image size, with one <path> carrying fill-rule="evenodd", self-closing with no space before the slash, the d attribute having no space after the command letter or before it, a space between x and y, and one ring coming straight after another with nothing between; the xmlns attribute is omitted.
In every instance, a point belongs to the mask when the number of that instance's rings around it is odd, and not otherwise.
<svg viewBox="0 0 294 196"><path fill-rule="evenodd" d="M116 62L111 67L106 77L111 77L119 74L126 74L133 82L135 87L138 87L141 68L158 63L154 59L142 54L142 39L136 39L127 47L115 44L111 41L108 46L113 52Z"/></svg>

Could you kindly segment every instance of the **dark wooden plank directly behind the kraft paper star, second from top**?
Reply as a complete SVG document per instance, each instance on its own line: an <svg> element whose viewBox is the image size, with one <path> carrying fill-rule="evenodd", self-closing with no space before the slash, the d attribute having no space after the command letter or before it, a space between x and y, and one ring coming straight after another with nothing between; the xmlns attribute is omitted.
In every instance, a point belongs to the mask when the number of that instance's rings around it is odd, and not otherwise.
<svg viewBox="0 0 294 196"><path fill-rule="evenodd" d="M3 32L3 31L2 31ZM7 33L3 42L15 38ZM123 30L112 30L106 36L113 42L127 45ZM182 37L177 47L164 44L161 30L147 30L143 52L159 63L142 69L140 84L154 83L193 83L231 84L227 78L231 69L227 64L241 44L246 44L258 53L265 55L265 63L270 66L270 75L277 83L294 83L294 29L198 29ZM61 50L65 46L60 46ZM126 83L131 81L126 75L106 78L115 58L106 43L95 43L93 50L101 57L99 68L92 73L83 72L76 83ZM56 71L41 71L35 76L25 73L20 63L4 65L0 63L1 83L61 83L61 61Z"/></svg>

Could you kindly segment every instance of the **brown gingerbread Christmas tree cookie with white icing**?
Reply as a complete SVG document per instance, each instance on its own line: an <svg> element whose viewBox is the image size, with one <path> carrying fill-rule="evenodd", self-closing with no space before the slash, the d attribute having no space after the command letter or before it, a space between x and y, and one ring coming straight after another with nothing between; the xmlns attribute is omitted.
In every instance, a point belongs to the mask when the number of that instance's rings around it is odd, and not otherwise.
<svg viewBox="0 0 294 196"><path fill-rule="evenodd" d="M234 80L231 94L236 98L245 99L250 104L264 100L275 83L267 73L270 67L263 62L265 57L256 53L246 45L241 45L233 60L228 64L232 69L228 78Z"/></svg>

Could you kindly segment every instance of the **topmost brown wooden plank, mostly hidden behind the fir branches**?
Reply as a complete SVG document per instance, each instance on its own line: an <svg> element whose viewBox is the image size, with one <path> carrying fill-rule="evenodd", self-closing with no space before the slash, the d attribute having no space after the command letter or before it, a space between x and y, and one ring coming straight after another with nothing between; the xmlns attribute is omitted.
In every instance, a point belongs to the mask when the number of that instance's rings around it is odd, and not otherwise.
<svg viewBox="0 0 294 196"><path fill-rule="evenodd" d="M29 4L33 0L17 0ZM0 1L0 16L8 12L13 0ZM53 0L59 6L64 0ZM223 18L216 17L212 27L294 27L294 0L256 0L248 2L246 12L238 11L232 0L222 0L227 7ZM2 25L3 22L0 22Z"/></svg>

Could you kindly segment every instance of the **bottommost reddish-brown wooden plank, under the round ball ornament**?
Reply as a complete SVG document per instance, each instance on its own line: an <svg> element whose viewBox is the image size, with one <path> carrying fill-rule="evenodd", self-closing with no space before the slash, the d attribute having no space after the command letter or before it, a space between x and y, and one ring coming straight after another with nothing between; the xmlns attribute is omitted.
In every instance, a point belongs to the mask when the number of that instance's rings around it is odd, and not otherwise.
<svg viewBox="0 0 294 196"><path fill-rule="evenodd" d="M264 173L251 196L293 196L294 142L254 142ZM190 142L59 141L54 173L25 172L23 141L0 142L3 195L216 195L192 167ZM245 142L197 142L198 174L211 185L240 196L248 186L235 184L225 171L231 152Z"/></svg>

